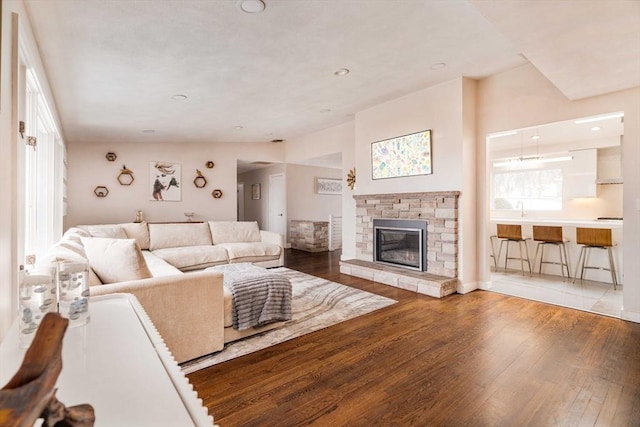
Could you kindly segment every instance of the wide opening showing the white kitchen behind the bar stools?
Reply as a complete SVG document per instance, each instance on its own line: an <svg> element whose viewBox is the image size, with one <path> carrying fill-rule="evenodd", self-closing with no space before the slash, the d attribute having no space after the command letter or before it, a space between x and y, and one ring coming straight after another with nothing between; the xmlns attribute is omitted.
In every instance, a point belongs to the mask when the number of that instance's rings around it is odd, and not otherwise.
<svg viewBox="0 0 640 427"><path fill-rule="evenodd" d="M489 290L621 317L624 283L614 289L608 272L597 270L574 283L561 277L559 266L549 264L541 274L540 258L534 260L537 242L531 238L534 225L562 227L573 276L580 252L576 228L611 228L617 243L614 264L621 275L622 118L623 113L608 113L488 135L488 235L496 235L498 223L520 225L523 237L530 238L533 270L521 271L519 262L505 268L505 252L498 254L500 243L494 237ZM515 253L520 256L517 248ZM550 258L545 261L557 261Z"/></svg>

